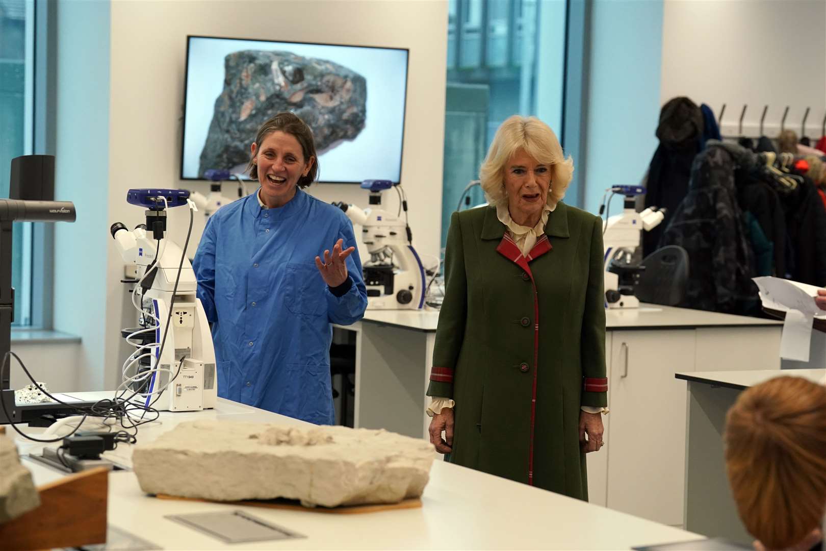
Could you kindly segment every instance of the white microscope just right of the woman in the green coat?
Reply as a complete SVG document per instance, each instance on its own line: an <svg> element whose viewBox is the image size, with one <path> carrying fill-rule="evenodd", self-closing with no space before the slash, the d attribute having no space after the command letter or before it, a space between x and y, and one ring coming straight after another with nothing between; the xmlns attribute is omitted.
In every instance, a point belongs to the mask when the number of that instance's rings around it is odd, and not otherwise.
<svg viewBox="0 0 826 551"><path fill-rule="evenodd" d="M634 297L634 287L644 266L634 264L634 251L639 246L639 236L643 231L659 225L665 217L665 209L648 207L637 212L634 197L645 194L642 186L614 186L605 190L610 197L624 195L622 214L603 221L602 241L605 248L605 307L638 308L639 300ZM610 197L608 202L610 203ZM605 204L600 208L600 215Z"/></svg>

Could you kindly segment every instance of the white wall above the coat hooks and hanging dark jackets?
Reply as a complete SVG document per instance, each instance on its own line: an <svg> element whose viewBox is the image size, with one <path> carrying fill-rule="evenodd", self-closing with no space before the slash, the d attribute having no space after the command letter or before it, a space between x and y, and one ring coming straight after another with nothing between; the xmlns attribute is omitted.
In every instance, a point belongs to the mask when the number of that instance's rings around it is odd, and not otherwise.
<svg viewBox="0 0 826 551"><path fill-rule="evenodd" d="M665 2L662 26L661 102L688 96L723 117L724 134L774 136L786 106L786 128L800 135L806 107L807 135L819 137L826 112L826 2Z"/></svg>

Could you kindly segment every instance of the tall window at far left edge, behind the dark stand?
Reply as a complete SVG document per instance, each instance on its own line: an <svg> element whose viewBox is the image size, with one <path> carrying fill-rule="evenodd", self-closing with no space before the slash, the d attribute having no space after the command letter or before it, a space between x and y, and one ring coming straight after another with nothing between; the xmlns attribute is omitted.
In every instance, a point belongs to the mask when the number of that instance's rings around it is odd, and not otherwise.
<svg viewBox="0 0 826 551"><path fill-rule="evenodd" d="M0 0L0 197L8 197L12 159L31 154L34 121L33 0ZM13 228L14 325L31 325L33 225Z"/></svg>

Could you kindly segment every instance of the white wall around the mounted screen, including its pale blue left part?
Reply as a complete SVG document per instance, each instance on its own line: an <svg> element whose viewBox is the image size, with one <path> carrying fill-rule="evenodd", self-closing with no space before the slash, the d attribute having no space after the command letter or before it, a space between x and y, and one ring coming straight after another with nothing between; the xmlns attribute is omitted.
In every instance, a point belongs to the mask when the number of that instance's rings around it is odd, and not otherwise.
<svg viewBox="0 0 826 551"><path fill-rule="evenodd" d="M142 221L126 190L208 191L178 180L187 35L409 48L401 183L414 245L438 254L447 2L121 0L61 2L59 14L57 189L78 205L78 222L55 229L55 329L83 339L72 366L83 388L115 386L129 350L120 329L135 323L108 234L113 221ZM309 191L367 204L354 185ZM392 197L388 207L395 205Z"/></svg>

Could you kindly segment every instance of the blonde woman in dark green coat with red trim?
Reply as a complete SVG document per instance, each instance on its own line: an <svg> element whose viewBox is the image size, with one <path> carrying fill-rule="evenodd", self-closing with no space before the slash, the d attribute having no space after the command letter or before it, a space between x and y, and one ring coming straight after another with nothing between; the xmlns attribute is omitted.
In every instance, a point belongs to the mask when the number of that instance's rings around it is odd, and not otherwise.
<svg viewBox="0 0 826 551"><path fill-rule="evenodd" d="M450 220L427 394L452 463L587 500L608 391L602 221L560 201L572 172L539 119L496 131L490 206Z"/></svg>

